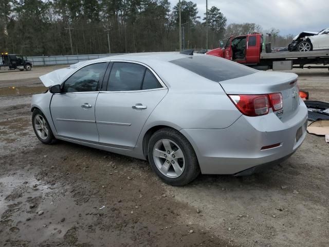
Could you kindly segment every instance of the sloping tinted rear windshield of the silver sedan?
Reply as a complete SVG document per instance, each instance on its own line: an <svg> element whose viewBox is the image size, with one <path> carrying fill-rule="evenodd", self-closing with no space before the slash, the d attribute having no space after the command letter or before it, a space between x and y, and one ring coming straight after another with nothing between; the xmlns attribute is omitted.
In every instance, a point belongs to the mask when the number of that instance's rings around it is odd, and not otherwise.
<svg viewBox="0 0 329 247"><path fill-rule="evenodd" d="M257 72L253 68L210 55L180 58L170 62L216 82Z"/></svg>

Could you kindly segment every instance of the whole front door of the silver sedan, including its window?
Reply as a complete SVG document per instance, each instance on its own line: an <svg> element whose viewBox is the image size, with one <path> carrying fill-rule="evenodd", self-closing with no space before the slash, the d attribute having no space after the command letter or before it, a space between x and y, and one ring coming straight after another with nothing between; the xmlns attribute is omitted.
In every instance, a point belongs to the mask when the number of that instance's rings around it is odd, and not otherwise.
<svg viewBox="0 0 329 247"><path fill-rule="evenodd" d="M54 94L50 111L61 137L98 143L95 104L108 63L95 63L79 69Z"/></svg>

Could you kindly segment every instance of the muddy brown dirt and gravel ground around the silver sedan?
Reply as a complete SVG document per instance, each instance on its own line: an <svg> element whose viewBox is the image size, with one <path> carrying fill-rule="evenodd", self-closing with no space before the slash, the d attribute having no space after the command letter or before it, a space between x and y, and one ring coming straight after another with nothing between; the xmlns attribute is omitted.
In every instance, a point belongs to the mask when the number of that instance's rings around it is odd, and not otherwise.
<svg viewBox="0 0 329 247"><path fill-rule="evenodd" d="M172 187L147 162L39 142L31 94L57 68L0 71L0 246L329 246L324 137L307 134L260 174ZM293 72L311 99L329 101L328 70Z"/></svg>

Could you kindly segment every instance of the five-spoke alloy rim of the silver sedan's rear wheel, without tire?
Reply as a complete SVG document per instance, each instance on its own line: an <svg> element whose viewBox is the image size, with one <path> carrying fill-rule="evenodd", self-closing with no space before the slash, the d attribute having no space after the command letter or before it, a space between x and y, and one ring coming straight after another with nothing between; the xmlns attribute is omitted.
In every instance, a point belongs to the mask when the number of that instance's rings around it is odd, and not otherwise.
<svg viewBox="0 0 329 247"><path fill-rule="evenodd" d="M184 153L170 139L160 139L154 145L153 160L158 170L168 178L178 178L184 172Z"/></svg>

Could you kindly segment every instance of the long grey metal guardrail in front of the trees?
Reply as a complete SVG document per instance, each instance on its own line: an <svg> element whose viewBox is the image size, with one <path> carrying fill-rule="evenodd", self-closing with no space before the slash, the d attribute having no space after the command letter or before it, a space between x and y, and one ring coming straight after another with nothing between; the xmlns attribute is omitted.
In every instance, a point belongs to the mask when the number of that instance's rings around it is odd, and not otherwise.
<svg viewBox="0 0 329 247"><path fill-rule="evenodd" d="M116 54L92 54L92 55L67 55L67 56L39 56L27 57L32 61L33 66L48 66L48 65L65 65L74 64L81 61L105 58L109 56L122 55L123 53Z"/></svg>

